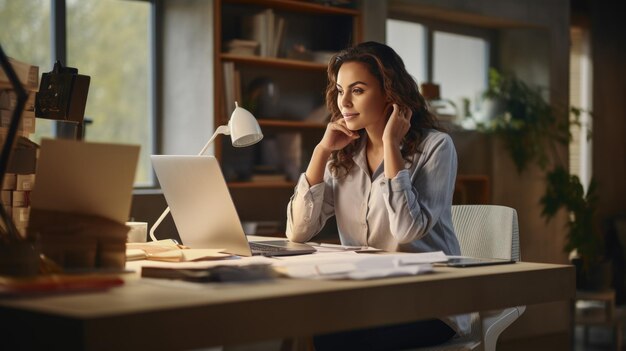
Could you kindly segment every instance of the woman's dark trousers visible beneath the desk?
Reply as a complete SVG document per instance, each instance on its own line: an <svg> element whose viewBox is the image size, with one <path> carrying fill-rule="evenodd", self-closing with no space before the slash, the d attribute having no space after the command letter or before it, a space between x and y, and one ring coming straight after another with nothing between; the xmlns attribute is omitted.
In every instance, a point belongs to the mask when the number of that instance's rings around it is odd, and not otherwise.
<svg viewBox="0 0 626 351"><path fill-rule="evenodd" d="M455 332L439 319L351 330L313 337L316 351L402 350L433 346L450 340Z"/></svg>

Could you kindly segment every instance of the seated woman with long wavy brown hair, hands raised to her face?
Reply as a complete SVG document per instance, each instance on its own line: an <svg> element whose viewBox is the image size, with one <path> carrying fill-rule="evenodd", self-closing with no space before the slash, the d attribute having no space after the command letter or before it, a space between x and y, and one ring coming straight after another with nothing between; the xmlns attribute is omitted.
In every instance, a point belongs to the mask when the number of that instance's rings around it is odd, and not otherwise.
<svg viewBox="0 0 626 351"><path fill-rule="evenodd" d="M331 122L288 205L287 237L308 241L334 215L343 245L460 255L451 214L454 144L438 131L402 59L384 44L361 43L333 56L328 81ZM317 336L315 344L401 349L468 329L468 316L452 316Z"/></svg>

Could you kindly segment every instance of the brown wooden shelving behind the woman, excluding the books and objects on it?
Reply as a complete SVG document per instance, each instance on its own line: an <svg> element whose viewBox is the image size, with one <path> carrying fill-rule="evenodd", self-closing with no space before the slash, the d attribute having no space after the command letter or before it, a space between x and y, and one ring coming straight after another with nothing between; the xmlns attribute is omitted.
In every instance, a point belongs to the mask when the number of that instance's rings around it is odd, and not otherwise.
<svg viewBox="0 0 626 351"><path fill-rule="evenodd" d="M231 40L252 40L246 28L250 28L251 18L267 9L273 11L276 21L278 18L284 21L284 34L277 55L229 52ZM233 84L240 87L239 105L256 116L264 134L264 140L259 144L237 150L227 144L228 138L223 138L222 143L215 145L215 155L220 159L241 220L284 221L286 205L295 186L294 170L284 182L251 182L248 178L251 171L243 171L244 176L241 176L233 169L241 170L249 162L252 162L251 166L258 166L259 155L267 154L268 143L285 135L297 135L298 138L294 145L300 148L299 164L292 163L292 168L300 168L300 171L306 168L326 127L326 121L319 118L319 113L315 114L322 111L323 115L327 85L327 62L320 57L328 57L360 41L361 12L357 8L298 0L215 0L213 23L215 128L227 123L230 117L225 105L226 63L229 69L234 66L239 77L238 83ZM264 110L261 100L254 100L255 91L251 87L259 79L275 85L279 94L278 107ZM230 84L232 81L227 85ZM280 146L275 149L277 154L291 151Z"/></svg>

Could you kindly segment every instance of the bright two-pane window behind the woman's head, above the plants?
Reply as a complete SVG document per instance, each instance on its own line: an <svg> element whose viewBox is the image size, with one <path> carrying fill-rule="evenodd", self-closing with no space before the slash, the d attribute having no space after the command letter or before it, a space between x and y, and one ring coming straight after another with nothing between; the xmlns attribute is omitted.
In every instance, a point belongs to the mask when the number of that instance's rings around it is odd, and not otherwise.
<svg viewBox="0 0 626 351"><path fill-rule="evenodd" d="M418 83L438 84L441 98L456 106L438 104L440 115L480 108L488 85L491 37L488 30L474 27L387 20L387 44L403 58L409 73Z"/></svg>

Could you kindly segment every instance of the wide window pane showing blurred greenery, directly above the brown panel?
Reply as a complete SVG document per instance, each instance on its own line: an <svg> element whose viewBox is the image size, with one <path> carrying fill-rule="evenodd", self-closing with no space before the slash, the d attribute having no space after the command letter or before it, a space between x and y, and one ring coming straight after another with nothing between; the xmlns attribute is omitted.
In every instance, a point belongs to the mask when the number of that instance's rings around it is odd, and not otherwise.
<svg viewBox="0 0 626 351"><path fill-rule="evenodd" d="M141 145L136 185L151 185L150 3L67 2L68 66L91 76L88 141Z"/></svg>

